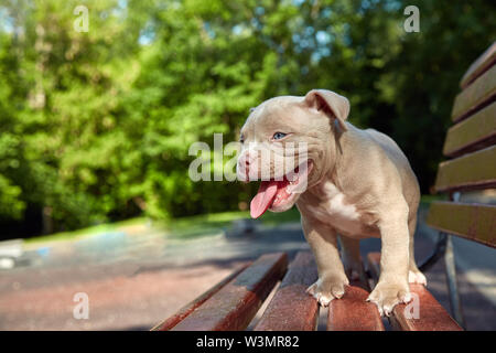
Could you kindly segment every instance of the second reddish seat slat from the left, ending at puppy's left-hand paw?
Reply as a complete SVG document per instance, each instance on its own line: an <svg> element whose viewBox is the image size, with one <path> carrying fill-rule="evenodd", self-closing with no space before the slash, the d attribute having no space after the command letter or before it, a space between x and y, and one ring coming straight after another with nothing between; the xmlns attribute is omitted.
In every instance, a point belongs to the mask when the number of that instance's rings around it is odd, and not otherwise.
<svg viewBox="0 0 496 353"><path fill-rule="evenodd" d="M317 279L312 254L301 252L267 307L255 331L313 331L319 318L316 300L306 288Z"/></svg>

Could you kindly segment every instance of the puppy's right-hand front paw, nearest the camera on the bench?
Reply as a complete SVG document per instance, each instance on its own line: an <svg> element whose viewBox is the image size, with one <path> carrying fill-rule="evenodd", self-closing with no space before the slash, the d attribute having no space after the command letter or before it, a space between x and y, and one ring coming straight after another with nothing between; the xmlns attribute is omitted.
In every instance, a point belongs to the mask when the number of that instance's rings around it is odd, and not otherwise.
<svg viewBox="0 0 496 353"><path fill-rule="evenodd" d="M396 304L408 303L411 299L408 285L379 282L368 296L367 301L377 306L381 317L389 317Z"/></svg>

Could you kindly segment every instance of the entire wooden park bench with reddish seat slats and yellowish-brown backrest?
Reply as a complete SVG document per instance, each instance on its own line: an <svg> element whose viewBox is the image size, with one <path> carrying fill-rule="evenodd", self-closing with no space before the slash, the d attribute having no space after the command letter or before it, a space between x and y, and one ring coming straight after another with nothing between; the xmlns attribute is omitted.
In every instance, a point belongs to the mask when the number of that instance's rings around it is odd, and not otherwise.
<svg viewBox="0 0 496 353"><path fill-rule="evenodd" d="M462 92L455 99L444 154L435 182L436 192L448 192L450 202L431 205L428 224L442 236L433 255L420 267L428 270L444 257L452 311L463 324L451 237L454 234L494 247L496 206L460 202L460 192L496 185L496 44L493 44L467 71ZM370 284L379 277L380 254L367 255L367 278L352 282L342 299L330 303L326 329L331 331L384 331L384 321L375 304L366 302ZM177 313L154 327L157 331L246 330L311 331L317 325L320 307L305 289L317 279L313 256L298 253L288 266L282 253L267 254L214 286ZM279 284L279 286L278 286ZM274 290L265 311L252 322L268 296ZM450 317L429 290L411 285L418 301L418 315L409 304L395 307L389 318L393 330L459 331L462 327Z"/></svg>

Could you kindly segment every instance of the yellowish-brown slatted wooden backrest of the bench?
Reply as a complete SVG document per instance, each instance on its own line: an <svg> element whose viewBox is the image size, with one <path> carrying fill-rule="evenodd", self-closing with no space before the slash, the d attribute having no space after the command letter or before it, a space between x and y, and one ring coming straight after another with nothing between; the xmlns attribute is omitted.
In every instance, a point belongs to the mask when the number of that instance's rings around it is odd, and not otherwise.
<svg viewBox="0 0 496 353"><path fill-rule="evenodd" d="M496 42L468 68L460 84L434 191L450 202L431 204L427 223L439 231L496 247L496 205L460 202L472 191L496 188ZM460 193L460 194L459 194Z"/></svg>

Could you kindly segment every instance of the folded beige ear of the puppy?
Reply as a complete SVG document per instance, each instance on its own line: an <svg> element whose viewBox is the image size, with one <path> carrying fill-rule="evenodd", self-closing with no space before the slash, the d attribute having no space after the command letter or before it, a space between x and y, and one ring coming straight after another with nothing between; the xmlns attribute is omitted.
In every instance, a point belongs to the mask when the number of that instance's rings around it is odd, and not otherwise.
<svg viewBox="0 0 496 353"><path fill-rule="evenodd" d="M337 119L339 127L346 131L345 120L349 114L349 101L346 97L327 89L312 89L305 95L305 104L316 110L322 110L330 118Z"/></svg>

